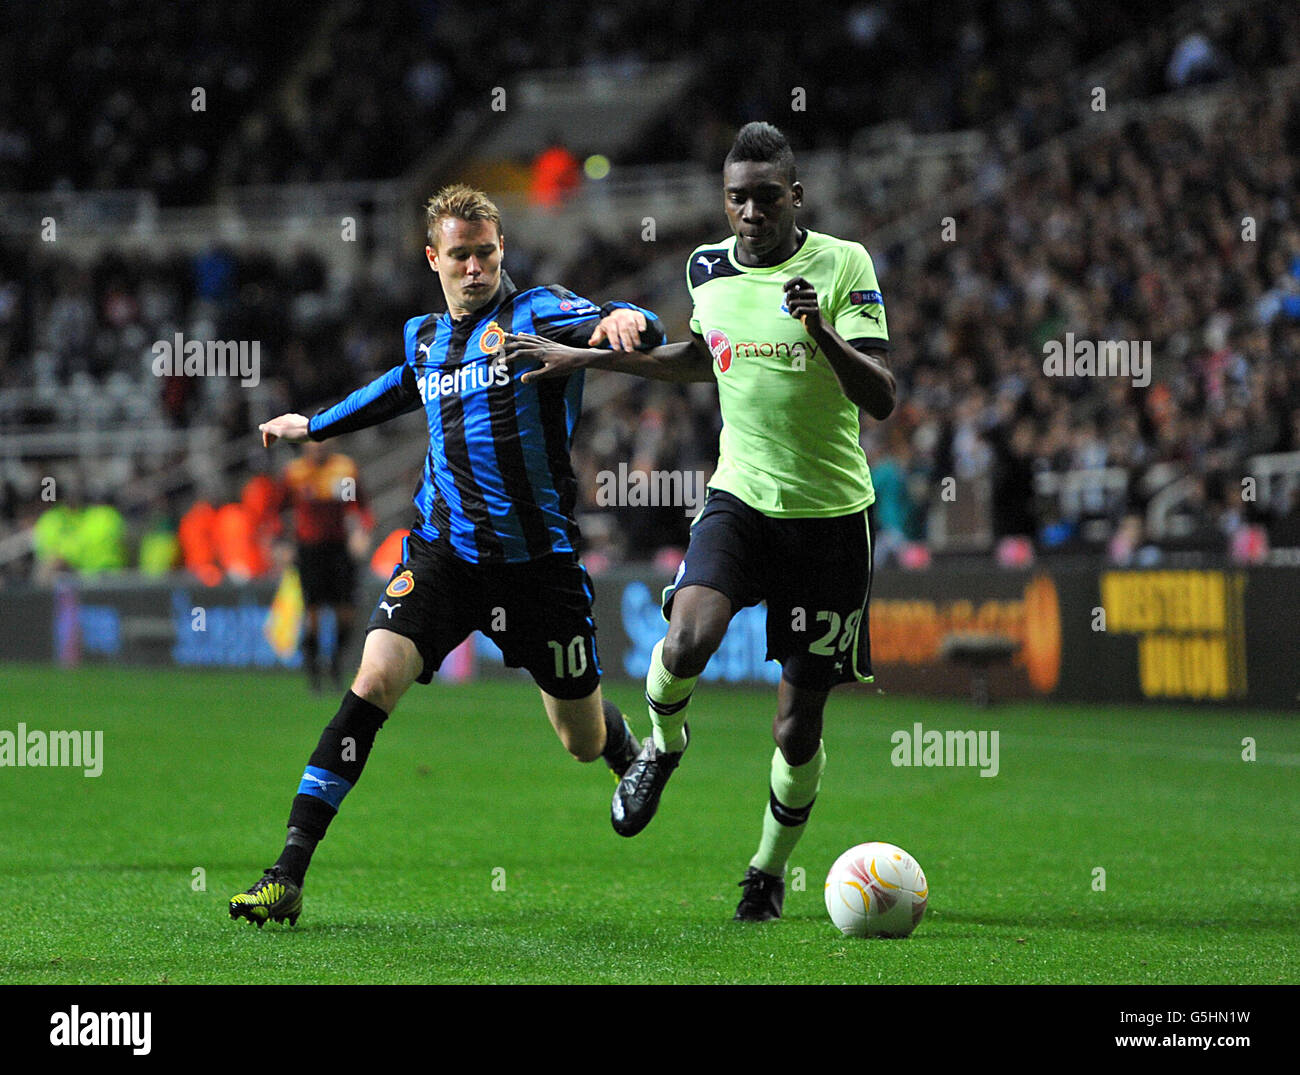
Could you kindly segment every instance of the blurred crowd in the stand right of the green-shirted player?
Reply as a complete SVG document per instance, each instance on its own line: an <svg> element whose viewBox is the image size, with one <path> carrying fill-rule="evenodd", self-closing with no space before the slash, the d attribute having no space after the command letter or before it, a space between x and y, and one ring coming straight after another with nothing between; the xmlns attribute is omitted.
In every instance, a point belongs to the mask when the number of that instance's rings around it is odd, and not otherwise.
<svg viewBox="0 0 1300 1075"><path fill-rule="evenodd" d="M868 458L931 484L989 473L997 532L1045 546L1079 526L1036 510L1034 473L1123 468L1136 513L1173 468L1204 477L1183 529L1231 541L1258 507L1247 459L1300 450L1297 152L1300 92L1256 87L1205 131L1156 120L1076 144L959 213L950 248L881 252L887 298L905 296L904 406ZM1149 341L1150 386L1045 376L1067 331Z"/></svg>

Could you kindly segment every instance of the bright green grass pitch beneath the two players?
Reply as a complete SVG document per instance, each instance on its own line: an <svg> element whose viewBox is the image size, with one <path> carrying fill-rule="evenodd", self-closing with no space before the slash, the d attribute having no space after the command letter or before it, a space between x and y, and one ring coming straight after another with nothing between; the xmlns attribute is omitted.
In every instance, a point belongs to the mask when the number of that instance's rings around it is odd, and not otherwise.
<svg viewBox="0 0 1300 1075"><path fill-rule="evenodd" d="M606 686L645 732L637 688ZM1294 716L837 692L785 918L736 924L774 705L702 685L659 816L623 840L608 771L564 754L526 681L416 686L316 855L298 927L259 931L226 901L278 854L335 699L287 675L0 666L0 729L104 732L98 779L0 768L0 981L1300 980ZM1000 773L896 768L889 737L914 721L996 729ZM906 941L848 940L826 916L827 868L866 840L928 876Z"/></svg>

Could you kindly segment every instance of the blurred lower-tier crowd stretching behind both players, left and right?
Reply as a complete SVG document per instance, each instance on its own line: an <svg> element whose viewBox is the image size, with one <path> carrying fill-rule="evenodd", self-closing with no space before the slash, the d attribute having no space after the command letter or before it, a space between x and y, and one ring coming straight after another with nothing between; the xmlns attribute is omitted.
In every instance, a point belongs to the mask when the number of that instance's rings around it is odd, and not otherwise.
<svg viewBox="0 0 1300 1075"><path fill-rule="evenodd" d="M864 428L883 547L924 538L949 474L987 476L997 536L1030 536L1041 549L1088 537L1102 545L1121 529L1141 545L1135 520L1157 477L1204 477L1179 507L1188 516L1182 530L1197 543L1226 549L1242 525L1270 521L1240 489L1249 456L1300 450L1297 153L1300 97L1256 91L1205 133L1158 120L1082 143L959 213L957 240L936 235L923 257L875 251L904 400L888 422ZM586 255L582 272L598 272ZM334 294L302 252L276 263L213 251L185 266L110 256L84 273L6 264L0 286L26 281L35 292L9 308L29 308L46 334L38 377L139 369L148 341L173 326L199 335L209 318L218 337L260 338L278 356L268 364L277 400L268 406L325 402L386 368L394 326L429 300L420 294L429 282L413 273ZM10 317L0 333L21 354L18 322ZM1150 386L1043 376L1044 344L1066 331L1150 341ZM22 377L16 369L10 383ZM198 404L195 382L177 382L155 381L157 406L185 422ZM246 432L248 394L226 396L229 433ZM610 555L682 543L685 521L680 510L615 510L616 525L602 526L595 474L620 460L707 472L715 445L707 386L627 381L608 406L588 411L575 459L593 533L608 534ZM1122 503L1096 506L1109 520L1100 529L1058 517L1052 498L1035 495L1037 473L1108 467L1131 481Z"/></svg>

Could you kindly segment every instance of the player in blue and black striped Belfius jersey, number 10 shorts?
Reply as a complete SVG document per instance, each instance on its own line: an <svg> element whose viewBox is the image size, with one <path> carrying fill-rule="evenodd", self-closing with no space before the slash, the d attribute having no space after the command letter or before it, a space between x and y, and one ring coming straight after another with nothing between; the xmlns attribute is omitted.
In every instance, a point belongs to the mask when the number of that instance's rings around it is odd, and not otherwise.
<svg viewBox="0 0 1300 1075"><path fill-rule="evenodd" d="M308 760L280 859L230 901L231 918L292 926L317 842L356 784L374 737L412 682L429 682L473 630L526 668L560 742L621 776L640 744L601 697L592 584L577 558L569 463L582 374L525 383L500 360L507 333L563 343L649 347L658 318L597 307L563 287L519 291L502 268L500 213L455 185L429 200L429 266L447 312L406 324L406 355L311 420L281 415L263 442L324 441L424 408L429 451L403 558L367 627L360 669Z"/></svg>

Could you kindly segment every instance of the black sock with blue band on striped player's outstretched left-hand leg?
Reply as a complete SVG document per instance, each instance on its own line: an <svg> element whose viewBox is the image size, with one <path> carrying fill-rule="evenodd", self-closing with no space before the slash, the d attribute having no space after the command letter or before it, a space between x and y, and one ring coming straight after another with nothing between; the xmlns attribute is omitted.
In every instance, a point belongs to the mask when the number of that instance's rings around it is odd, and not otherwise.
<svg viewBox="0 0 1300 1075"><path fill-rule="evenodd" d="M351 690L325 725L289 810L289 837L277 866L303 883L316 844L325 838L343 797L356 786L374 736L389 715Z"/></svg>

